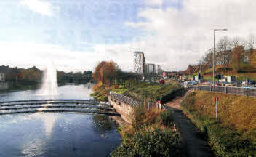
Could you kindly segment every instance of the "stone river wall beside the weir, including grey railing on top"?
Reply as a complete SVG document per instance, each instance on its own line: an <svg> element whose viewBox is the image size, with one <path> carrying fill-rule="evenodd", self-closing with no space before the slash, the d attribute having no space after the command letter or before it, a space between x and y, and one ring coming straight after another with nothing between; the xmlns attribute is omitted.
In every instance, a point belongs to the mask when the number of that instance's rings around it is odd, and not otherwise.
<svg viewBox="0 0 256 157"><path fill-rule="evenodd" d="M108 102L111 103L113 108L116 109L124 121L132 123L132 120L135 118L134 110L139 102L124 95L116 94L113 92L108 95Z"/></svg>

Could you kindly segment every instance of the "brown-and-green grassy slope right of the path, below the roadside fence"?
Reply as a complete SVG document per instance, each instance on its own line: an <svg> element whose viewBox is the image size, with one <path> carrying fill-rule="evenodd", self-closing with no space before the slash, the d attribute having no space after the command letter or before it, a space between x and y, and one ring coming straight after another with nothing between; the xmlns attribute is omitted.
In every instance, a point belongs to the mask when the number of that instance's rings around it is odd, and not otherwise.
<svg viewBox="0 0 256 157"><path fill-rule="evenodd" d="M214 97L219 97L218 120ZM182 102L217 156L256 154L256 98L212 92L191 92Z"/></svg>

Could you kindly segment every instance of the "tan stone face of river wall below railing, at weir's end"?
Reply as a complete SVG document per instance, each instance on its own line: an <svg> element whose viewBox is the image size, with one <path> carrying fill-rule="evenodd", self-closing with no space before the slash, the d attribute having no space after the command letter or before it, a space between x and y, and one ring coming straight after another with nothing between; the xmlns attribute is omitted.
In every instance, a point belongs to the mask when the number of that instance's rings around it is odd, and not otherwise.
<svg viewBox="0 0 256 157"><path fill-rule="evenodd" d="M121 118L123 118L124 121L132 123L132 120L135 117L134 107L132 107L132 105L121 102L111 95L108 96L108 102L110 102L110 104L113 105L113 108L116 109L118 113L120 113Z"/></svg>

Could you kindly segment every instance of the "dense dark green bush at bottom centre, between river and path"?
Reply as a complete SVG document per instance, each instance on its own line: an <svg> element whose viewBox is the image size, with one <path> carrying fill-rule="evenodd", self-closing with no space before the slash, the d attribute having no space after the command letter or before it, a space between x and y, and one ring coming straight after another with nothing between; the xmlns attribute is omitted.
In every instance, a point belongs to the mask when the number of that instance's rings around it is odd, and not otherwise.
<svg viewBox="0 0 256 157"><path fill-rule="evenodd" d="M136 132L124 140L111 156L179 156L180 137L171 129L150 129Z"/></svg>

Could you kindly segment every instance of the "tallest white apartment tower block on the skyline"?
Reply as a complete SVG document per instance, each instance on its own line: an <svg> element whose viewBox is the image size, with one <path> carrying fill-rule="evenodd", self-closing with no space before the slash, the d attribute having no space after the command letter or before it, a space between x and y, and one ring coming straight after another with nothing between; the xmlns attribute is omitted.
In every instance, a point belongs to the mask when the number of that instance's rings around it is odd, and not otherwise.
<svg viewBox="0 0 256 157"><path fill-rule="evenodd" d="M134 72L141 75L145 73L145 56L143 52L134 52Z"/></svg>

